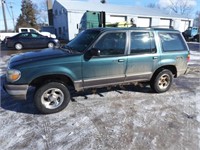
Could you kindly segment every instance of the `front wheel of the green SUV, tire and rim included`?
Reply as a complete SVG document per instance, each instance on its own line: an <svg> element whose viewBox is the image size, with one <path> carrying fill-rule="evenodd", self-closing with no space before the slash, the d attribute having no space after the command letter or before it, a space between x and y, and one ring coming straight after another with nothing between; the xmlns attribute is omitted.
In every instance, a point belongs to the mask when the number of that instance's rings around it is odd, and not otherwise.
<svg viewBox="0 0 200 150"><path fill-rule="evenodd" d="M37 109L44 114L63 110L70 101L68 88L60 82L49 82L36 90L34 102Z"/></svg>

